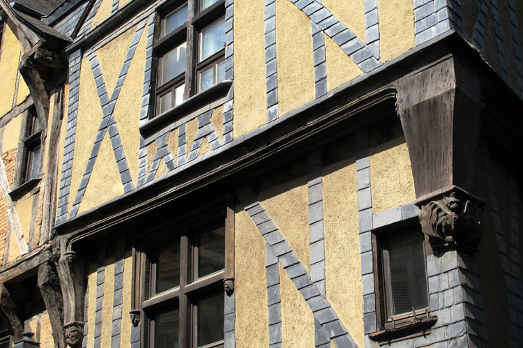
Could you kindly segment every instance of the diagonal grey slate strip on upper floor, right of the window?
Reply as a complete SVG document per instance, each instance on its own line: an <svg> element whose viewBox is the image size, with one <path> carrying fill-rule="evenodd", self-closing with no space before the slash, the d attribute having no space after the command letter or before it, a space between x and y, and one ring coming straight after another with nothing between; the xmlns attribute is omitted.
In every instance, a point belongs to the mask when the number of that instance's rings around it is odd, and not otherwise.
<svg viewBox="0 0 523 348"><path fill-rule="evenodd" d="M315 0L289 0L296 7L307 15L319 29L326 33L329 38L342 48L342 50L358 64L363 72L381 66L381 61L377 60L365 43L356 37L350 29L338 20L326 7ZM267 32L267 26L265 31Z"/></svg>

